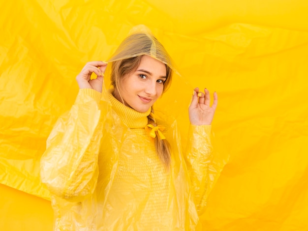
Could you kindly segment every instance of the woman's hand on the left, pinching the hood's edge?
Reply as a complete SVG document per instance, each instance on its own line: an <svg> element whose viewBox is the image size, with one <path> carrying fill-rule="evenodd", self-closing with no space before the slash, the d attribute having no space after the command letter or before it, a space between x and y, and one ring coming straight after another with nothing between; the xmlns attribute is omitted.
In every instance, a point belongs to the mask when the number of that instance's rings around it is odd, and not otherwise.
<svg viewBox="0 0 308 231"><path fill-rule="evenodd" d="M102 92L106 67L107 63L103 61L87 62L76 77L79 88L91 88L98 92ZM91 80L91 74L93 72L97 75L97 78Z"/></svg>

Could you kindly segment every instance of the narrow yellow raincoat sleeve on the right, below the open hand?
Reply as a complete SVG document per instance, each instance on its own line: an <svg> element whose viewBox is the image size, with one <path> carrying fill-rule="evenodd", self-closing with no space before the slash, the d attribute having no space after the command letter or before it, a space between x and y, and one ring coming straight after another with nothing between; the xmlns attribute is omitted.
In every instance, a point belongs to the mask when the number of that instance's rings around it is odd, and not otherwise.
<svg viewBox="0 0 308 231"><path fill-rule="evenodd" d="M206 206L207 196L214 183L211 177L213 148L210 134L211 125L189 125L185 160L199 214Z"/></svg>

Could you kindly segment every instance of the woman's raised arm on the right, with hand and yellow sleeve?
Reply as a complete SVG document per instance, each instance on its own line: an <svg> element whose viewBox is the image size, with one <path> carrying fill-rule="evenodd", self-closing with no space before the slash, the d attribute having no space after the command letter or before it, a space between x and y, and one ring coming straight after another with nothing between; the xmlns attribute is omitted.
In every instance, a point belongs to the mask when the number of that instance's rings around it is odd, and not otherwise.
<svg viewBox="0 0 308 231"><path fill-rule="evenodd" d="M210 107L210 93L194 89L189 106L189 132L185 152L185 160L195 194L195 204L199 214L205 208L206 200L212 188L213 148L211 144L211 123L217 106L217 94L214 93L214 102ZM215 170L214 170L215 171Z"/></svg>

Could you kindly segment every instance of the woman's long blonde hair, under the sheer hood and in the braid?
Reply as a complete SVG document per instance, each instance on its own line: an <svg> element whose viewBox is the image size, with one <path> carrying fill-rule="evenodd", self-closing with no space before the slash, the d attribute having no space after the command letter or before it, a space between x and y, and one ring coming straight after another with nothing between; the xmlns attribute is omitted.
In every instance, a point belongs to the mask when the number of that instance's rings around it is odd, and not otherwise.
<svg viewBox="0 0 308 231"><path fill-rule="evenodd" d="M155 52L153 47L155 47ZM152 55L154 53L155 56L153 57ZM170 87L173 71L167 65L167 63L171 63L171 59L166 50L154 36L149 37L148 34L133 34L128 36L121 43L115 55L113 56L113 58L111 58L113 59L111 65L111 85L114 87L114 89L117 89L121 98L122 96L120 86L123 77L137 69L141 58L144 55L149 55L166 64L167 79L164 82L163 92L165 92ZM125 58L121 59L121 57ZM151 108L151 112L152 113L148 116L148 120L149 123L151 123L155 127L157 126L157 124L153 116L153 108ZM160 140L156 136L154 138L154 144L159 159L164 164L164 166L169 169L171 164L171 151L168 141L166 139Z"/></svg>

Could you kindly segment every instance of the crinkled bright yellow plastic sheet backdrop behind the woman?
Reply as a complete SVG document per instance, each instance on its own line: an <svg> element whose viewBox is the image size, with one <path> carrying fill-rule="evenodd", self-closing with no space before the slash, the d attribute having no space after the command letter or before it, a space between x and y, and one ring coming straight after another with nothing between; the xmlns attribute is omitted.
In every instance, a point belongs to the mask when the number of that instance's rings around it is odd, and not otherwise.
<svg viewBox="0 0 308 231"><path fill-rule="evenodd" d="M1 231L52 230L38 177L48 134L84 64L108 59L138 24L182 75L166 97L181 105L193 87L218 93L217 153L230 159L205 230L308 230L308 1L19 0L0 9Z"/></svg>

